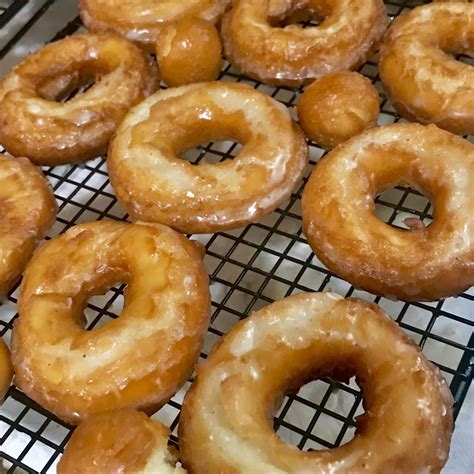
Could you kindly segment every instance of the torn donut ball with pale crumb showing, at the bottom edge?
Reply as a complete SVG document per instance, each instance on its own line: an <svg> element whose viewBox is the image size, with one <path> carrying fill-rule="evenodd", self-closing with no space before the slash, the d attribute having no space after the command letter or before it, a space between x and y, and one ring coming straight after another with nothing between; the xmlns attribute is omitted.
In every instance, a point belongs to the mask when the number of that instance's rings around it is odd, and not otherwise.
<svg viewBox="0 0 474 474"><path fill-rule="evenodd" d="M58 474L184 474L168 449L170 430L134 410L96 415L79 425Z"/></svg>

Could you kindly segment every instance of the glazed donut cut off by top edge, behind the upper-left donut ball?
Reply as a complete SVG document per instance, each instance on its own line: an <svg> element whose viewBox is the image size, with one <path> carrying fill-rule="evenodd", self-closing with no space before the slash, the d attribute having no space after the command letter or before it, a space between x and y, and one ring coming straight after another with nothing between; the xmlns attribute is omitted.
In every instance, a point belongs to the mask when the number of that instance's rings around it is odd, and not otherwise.
<svg viewBox="0 0 474 474"><path fill-rule="evenodd" d="M92 31L115 31L152 53L170 21L195 16L216 24L230 0L80 0L82 23Z"/></svg>

